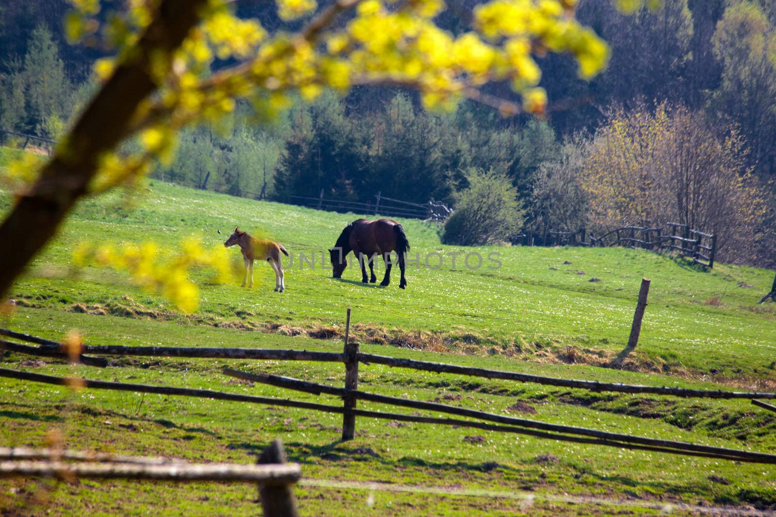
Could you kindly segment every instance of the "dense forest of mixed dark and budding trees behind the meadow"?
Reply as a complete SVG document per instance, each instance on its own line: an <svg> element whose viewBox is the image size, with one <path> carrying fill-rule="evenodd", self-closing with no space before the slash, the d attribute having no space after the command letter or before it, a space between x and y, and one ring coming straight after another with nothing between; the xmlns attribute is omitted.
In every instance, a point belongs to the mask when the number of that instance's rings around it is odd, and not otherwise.
<svg viewBox="0 0 776 517"><path fill-rule="evenodd" d="M476 3L451 3L438 23L466 32ZM354 88L293 102L270 125L238 105L225 125L180 133L175 157L153 175L282 202L320 190L368 202L381 191L451 205L472 181L505 178L516 194L510 224L689 222L727 233L722 260L774 266L776 0L663 4L628 14L611 0L580 0L577 19L609 43L609 65L584 81L571 57L540 58L543 120L503 118L474 102L425 112L417 94ZM279 23L271 7L237 5L266 27ZM94 91L100 53L65 41L67 8L62 0L0 5L0 129L57 140ZM514 98L507 84L484 90Z"/></svg>

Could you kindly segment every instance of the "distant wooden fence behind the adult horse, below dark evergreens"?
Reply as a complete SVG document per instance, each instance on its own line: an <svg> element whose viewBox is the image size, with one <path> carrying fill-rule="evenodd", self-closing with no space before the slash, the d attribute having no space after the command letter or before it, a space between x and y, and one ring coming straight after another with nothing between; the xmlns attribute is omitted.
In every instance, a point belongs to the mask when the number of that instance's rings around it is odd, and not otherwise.
<svg viewBox="0 0 776 517"><path fill-rule="evenodd" d="M320 190L320 195L317 198L302 195L289 197L296 205L329 212L356 212L409 219L431 219L431 221L439 222L444 222L452 213L452 210L447 208L444 203L436 202L433 199L425 203L411 203L400 199L386 198L380 192L375 195L374 203L324 198L323 189Z"/></svg>

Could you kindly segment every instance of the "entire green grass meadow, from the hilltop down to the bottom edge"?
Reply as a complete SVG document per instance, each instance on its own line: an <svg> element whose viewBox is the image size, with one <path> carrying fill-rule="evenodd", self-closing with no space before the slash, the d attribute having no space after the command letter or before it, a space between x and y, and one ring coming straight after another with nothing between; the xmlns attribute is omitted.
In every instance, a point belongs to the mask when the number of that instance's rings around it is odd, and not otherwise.
<svg viewBox="0 0 776 517"><path fill-rule="evenodd" d="M0 213L10 203L8 193L0 196ZM726 264L703 271L684 260L622 249L462 250L442 246L431 223L401 220L420 264L408 268L407 290L398 288L397 275L379 288L361 284L355 268L335 280L330 267L320 266L321 254L356 217L158 181L129 200L120 192L105 195L79 206L15 284L10 298L18 302L16 312L0 316L0 326L57 340L78 329L89 344L339 351L351 307L352 335L369 353L629 384L776 387L774 305L756 305L771 288L772 271ZM217 244L234 226L272 236L294 253L293 264L286 260L285 293L272 291L267 264L256 264L253 289L240 288L238 278L213 284L202 271L194 276L199 310L185 315L122 272L72 264L72 251L84 241L175 246L199 234ZM458 251L465 253L453 268L451 253ZM230 252L241 264L239 252ZM487 259L477 270L462 267L472 252L498 253L501 267L487 269L493 264ZM300 267L300 253L315 257L314 267ZM425 257L432 266L442 257L442 267L425 267ZM381 279L382 264L376 272ZM650 305L639 346L627 351L642 277L652 281ZM607 367L616 359L621 368ZM331 397L237 382L220 370L335 386L344 381L341 365L276 361L136 358L97 369L4 353L0 365L334 404ZM591 394L378 365L361 366L359 388L544 422L776 452L776 417L747 401ZM74 392L9 379L0 380L0 390L3 446L43 446L56 435L74 449L248 463L280 437L289 459L303 467L305 481L295 488L303 515L643 515L660 513L664 505L684 515L698 508L677 505L776 508L776 473L764 465L365 418L357 421L355 440L341 443L338 415ZM400 411L367 402L359 407ZM257 512L255 498L254 487L240 484L0 482L0 508L20 515L249 515Z"/></svg>

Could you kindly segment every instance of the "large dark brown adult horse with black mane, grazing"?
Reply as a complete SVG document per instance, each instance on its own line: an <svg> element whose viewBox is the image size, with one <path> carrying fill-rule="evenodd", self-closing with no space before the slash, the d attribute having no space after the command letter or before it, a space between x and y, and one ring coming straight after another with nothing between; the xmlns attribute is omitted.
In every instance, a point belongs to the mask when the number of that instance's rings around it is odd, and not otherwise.
<svg viewBox="0 0 776 517"><path fill-rule="evenodd" d="M404 255L410 250L410 242L404 234L404 228L398 222L390 219L353 221L345 226L337 243L334 244L334 248L329 250L334 278L342 276L342 271L345 271L345 266L348 265L345 256L352 251L361 264L361 281L365 284L371 281L374 284L377 281L374 258L377 255L383 255L383 260L386 263L386 276L380 285L386 286L390 283L390 268L393 266L390 252L393 250L396 250L399 255L399 268L401 270L399 287L404 289L407 287L407 280L404 279ZM365 262L369 262L369 271L372 272L371 280L366 276Z"/></svg>

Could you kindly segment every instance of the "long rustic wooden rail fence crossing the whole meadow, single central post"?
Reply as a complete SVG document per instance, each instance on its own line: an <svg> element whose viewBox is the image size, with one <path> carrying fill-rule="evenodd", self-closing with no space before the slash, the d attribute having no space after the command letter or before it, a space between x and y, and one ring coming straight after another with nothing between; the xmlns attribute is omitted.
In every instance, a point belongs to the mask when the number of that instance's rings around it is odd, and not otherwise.
<svg viewBox="0 0 776 517"><path fill-rule="evenodd" d="M349 310L348 310L349 322ZM378 395L358 389L359 364L384 364L391 367L412 368L421 371L435 371L439 373L462 374L489 379L504 379L518 382L533 382L538 384L559 386L563 388L580 388L591 391L614 391L620 393L649 393L653 395L673 395L677 397L692 398L748 398L756 401L760 398L774 399L776 393L753 393L721 390L697 390L688 388L667 388L661 386L645 386L636 384L601 383L598 381L580 381L573 379L560 379L555 377L543 377L533 374L519 374L509 371L495 371L476 367L463 367L454 364L433 363L396 357L386 357L369 353L361 353L358 343L348 340L349 325L346 326L345 343L343 353L310 352L307 350L262 350L262 349L230 349L230 348L198 348L198 347L164 347L164 346L93 346L84 345L73 355L68 355L65 346L50 342L47 339L26 336L10 330L0 329L0 335L12 339L38 343L40 346L30 346L23 343L0 340L0 350L8 350L16 353L30 353L38 356L77 357L83 362L85 357L91 357L91 362L99 366L101 357L89 356L120 355L120 356L156 356L156 357L213 357L228 359L271 359L271 360L314 360L325 362L341 362L345 365L345 387L334 388L324 384L315 384L300 381L290 377L281 377L269 374L251 374L233 369L225 369L224 374L241 377L251 381L272 384L273 386L314 393L317 395L334 395L343 399L342 405L324 405L317 402L295 401L289 398L258 397L222 391L205 389L177 388L170 386L154 386L146 384L129 384L121 382L98 381L88 379L71 379L67 377L53 377L43 374L34 374L26 371L16 371L0 368L0 377L11 377L19 380L42 382L59 385L78 385L87 389L109 389L121 391L133 391L138 393L157 393L163 395L182 395L198 398L213 398L234 402L247 402L261 405L273 405L282 407L302 408L320 412L339 413L343 415L342 439L352 439L355 435L356 417L369 417L377 419L390 419L400 422L424 422L435 425L471 427L486 429L504 433L518 433L527 436L535 436L546 439L556 439L573 443L591 443L601 446L615 446L636 450L650 450L661 453L684 454L698 457L714 457L726 460L738 460L762 464L776 464L776 455L769 453L757 453L750 450L734 450L724 447L705 446L695 443L678 442L666 439L652 439L642 436L632 436L622 433L608 433L597 429L587 429L576 426L565 426L538 422L529 419L518 419L506 415L481 412L473 409L459 408L452 405L438 404L435 402L414 401L408 398L394 398L386 395ZM107 361L105 361L107 364ZM394 405L404 408L415 408L448 415L464 416L469 420L429 417L422 415L407 415L393 412L374 412L356 408L356 401L377 402L386 405ZM766 408L764 403L757 402L760 407ZM474 419L474 420L471 420Z"/></svg>

